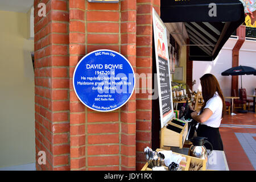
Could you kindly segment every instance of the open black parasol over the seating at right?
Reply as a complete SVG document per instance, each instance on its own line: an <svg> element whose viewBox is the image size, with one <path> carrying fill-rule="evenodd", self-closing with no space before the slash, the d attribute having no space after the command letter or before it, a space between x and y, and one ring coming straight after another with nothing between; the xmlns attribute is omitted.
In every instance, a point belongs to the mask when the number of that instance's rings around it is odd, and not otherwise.
<svg viewBox="0 0 256 182"><path fill-rule="evenodd" d="M256 69L253 67L246 67L240 65L239 67L233 67L227 69L225 72L221 73L222 76L229 75L241 75L241 88L242 88L242 75L256 75Z"/></svg>

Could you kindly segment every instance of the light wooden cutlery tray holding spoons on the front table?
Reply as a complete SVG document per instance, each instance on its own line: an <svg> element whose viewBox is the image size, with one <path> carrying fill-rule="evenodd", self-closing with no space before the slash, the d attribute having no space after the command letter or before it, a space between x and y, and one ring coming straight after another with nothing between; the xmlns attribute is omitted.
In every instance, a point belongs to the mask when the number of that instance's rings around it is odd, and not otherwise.
<svg viewBox="0 0 256 182"><path fill-rule="evenodd" d="M159 151L164 151L160 148L156 149L157 152ZM199 165L203 165L201 167L200 171L206 171L206 166L207 166L207 160L206 159L199 159L199 158L195 158L189 155L184 155L184 154L179 154L176 152L172 152L172 154L177 154L177 155L182 155L186 158L186 162L183 162L183 160L181 160L180 162L180 167L182 171L189 171L189 167L191 164L199 164ZM167 166L164 166L164 168L168 169ZM152 171L151 168L148 167L148 163L146 163L143 168L141 169L141 171Z"/></svg>

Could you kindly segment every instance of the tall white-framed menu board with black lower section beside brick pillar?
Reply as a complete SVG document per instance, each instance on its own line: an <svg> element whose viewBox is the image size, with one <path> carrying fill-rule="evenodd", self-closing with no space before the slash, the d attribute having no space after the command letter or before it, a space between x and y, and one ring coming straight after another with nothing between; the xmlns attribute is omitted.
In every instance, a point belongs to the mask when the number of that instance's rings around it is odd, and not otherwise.
<svg viewBox="0 0 256 182"><path fill-rule="evenodd" d="M170 63L167 44L167 30L163 21L153 8L153 29L155 41L156 73L160 106L161 127L174 117L172 104Z"/></svg>

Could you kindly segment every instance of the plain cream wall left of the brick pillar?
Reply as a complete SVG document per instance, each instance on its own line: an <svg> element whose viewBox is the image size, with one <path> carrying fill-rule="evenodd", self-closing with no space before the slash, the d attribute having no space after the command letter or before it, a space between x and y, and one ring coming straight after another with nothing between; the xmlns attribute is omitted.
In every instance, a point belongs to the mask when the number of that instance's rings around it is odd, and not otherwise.
<svg viewBox="0 0 256 182"><path fill-rule="evenodd" d="M0 168L35 162L35 84L25 13L0 11Z"/></svg>

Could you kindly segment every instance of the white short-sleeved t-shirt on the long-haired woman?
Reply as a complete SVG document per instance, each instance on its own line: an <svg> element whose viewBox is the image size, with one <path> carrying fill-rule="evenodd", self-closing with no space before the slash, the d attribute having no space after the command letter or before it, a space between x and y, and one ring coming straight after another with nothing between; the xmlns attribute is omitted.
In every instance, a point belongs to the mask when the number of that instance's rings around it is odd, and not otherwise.
<svg viewBox="0 0 256 182"><path fill-rule="evenodd" d="M218 93L214 93L213 97L207 101L204 109L210 109L212 111L212 115L210 118L201 123L201 125L207 125L210 127L220 127L221 117L222 117L222 100L221 97L218 96Z"/></svg>

